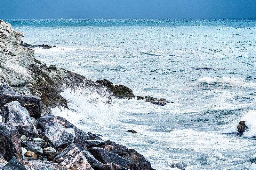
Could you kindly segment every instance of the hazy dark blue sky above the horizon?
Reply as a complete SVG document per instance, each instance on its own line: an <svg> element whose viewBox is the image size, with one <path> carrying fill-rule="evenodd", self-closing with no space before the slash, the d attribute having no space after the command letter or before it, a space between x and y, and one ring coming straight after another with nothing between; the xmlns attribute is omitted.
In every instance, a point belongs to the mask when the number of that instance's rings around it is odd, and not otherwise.
<svg viewBox="0 0 256 170"><path fill-rule="evenodd" d="M0 0L0 18L256 18L256 0Z"/></svg>

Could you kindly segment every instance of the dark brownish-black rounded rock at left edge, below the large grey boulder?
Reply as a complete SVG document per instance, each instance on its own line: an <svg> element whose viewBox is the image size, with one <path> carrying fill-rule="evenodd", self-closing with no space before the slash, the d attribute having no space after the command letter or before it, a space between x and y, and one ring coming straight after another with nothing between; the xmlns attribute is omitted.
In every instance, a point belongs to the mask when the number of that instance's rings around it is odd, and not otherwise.
<svg viewBox="0 0 256 170"><path fill-rule="evenodd" d="M0 154L6 161L13 156L21 160L20 134L14 126L0 123Z"/></svg>

